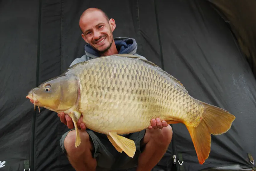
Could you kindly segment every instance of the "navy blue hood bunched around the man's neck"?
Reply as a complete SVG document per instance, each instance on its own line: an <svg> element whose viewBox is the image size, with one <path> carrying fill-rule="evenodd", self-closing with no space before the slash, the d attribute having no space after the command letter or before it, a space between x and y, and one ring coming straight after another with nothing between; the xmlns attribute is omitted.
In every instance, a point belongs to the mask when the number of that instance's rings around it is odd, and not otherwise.
<svg viewBox="0 0 256 171"><path fill-rule="evenodd" d="M137 51L137 43L134 38L114 38L114 42L117 47L117 51L119 54L127 53L127 54L135 54ZM91 58L95 58L100 56L98 51L95 50L90 44L86 44L84 46L84 50L86 55Z"/></svg>

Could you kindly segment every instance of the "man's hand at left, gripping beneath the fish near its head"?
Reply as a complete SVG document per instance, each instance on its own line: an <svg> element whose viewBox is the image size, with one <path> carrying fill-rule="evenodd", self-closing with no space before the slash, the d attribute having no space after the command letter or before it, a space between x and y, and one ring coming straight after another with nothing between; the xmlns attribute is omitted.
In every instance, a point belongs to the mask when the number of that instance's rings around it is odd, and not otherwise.
<svg viewBox="0 0 256 171"><path fill-rule="evenodd" d="M67 127L69 129L73 129L74 128L74 124L73 124L73 121L72 119L68 116L68 115L65 115L64 112L60 112L58 113L58 117L60 118L61 122L65 125L67 125ZM76 125L78 128L80 128L82 131L85 131L86 130L86 126L85 124L82 122L82 119L83 119L83 115L80 116L79 120L77 121Z"/></svg>

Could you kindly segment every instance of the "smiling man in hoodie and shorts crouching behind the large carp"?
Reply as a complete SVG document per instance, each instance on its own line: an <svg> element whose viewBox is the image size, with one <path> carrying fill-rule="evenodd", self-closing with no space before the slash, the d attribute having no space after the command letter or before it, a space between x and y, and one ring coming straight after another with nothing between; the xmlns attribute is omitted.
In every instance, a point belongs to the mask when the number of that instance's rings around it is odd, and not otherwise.
<svg viewBox="0 0 256 171"><path fill-rule="evenodd" d="M136 54L137 44L131 38L113 38L112 32L116 25L114 19L97 8L89 8L83 12L79 21L82 38L86 41L85 55L75 59L70 66L96 58L118 53ZM143 56L141 58L145 59ZM61 122L72 129L73 122L68 115L58 114ZM136 153L133 158L119 153L106 135L86 129L80 118L77 126L81 129L82 143L75 148L75 130L65 133L61 147L76 171L121 170L136 167L136 171L150 171L166 152L171 139L172 128L159 118L151 120L151 126L146 130L125 135L136 143Z"/></svg>

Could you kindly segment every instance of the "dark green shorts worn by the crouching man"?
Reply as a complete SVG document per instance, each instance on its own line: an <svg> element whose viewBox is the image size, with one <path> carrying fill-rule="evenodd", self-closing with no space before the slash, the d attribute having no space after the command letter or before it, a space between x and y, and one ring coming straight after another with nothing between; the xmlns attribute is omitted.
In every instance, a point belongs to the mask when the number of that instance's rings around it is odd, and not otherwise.
<svg viewBox="0 0 256 171"><path fill-rule="evenodd" d="M64 154L66 154L64 139L69 131L64 133L60 139L60 145ZM145 130L125 135L126 138L135 142L136 152L133 158L129 157L125 152L119 153L108 140L106 135L92 130L86 130L86 132L89 134L93 142L93 157L97 161L96 171L120 171L136 168L138 164L138 157L143 151L143 147L141 147L140 143L144 138Z"/></svg>

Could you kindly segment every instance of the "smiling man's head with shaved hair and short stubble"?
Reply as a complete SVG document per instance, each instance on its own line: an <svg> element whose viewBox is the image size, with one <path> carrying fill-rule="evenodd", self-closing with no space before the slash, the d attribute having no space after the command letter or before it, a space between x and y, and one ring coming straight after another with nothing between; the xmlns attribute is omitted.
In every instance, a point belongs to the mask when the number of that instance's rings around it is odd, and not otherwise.
<svg viewBox="0 0 256 171"><path fill-rule="evenodd" d="M114 42L116 24L114 19L98 8L88 8L80 17L79 26L83 39L101 53L106 52Z"/></svg>

